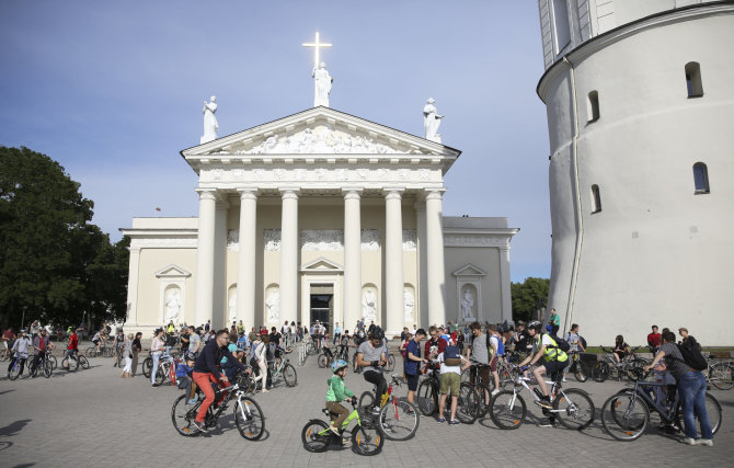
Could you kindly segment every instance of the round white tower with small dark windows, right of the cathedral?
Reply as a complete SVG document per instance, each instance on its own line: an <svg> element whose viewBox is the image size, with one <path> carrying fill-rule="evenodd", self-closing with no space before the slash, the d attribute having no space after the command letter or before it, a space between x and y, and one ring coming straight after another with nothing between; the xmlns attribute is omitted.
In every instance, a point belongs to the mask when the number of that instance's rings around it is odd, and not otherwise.
<svg viewBox="0 0 734 468"><path fill-rule="evenodd" d="M593 344L731 345L734 2L539 0L549 307Z"/></svg>

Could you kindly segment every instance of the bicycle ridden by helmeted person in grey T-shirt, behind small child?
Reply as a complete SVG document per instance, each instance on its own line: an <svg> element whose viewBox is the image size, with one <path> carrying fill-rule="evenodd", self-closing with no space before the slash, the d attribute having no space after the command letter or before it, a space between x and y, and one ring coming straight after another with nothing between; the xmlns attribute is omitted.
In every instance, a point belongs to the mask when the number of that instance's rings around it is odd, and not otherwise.
<svg viewBox="0 0 734 468"><path fill-rule="evenodd" d="M375 422L380 433L391 441L408 441L415 435L421 423L418 409L408 400L399 400L392 391L393 385L401 386L401 377L399 375L391 376L388 390L380 399L378 414L371 412L376 406L375 392L377 386L374 387L372 391L365 391L359 396L359 408L365 409L365 418Z"/></svg>

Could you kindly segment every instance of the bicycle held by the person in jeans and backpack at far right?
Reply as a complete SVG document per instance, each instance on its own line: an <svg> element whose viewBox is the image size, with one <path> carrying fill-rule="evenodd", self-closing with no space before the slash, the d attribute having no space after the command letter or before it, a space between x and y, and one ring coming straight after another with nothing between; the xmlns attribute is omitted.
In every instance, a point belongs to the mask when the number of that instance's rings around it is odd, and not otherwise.
<svg viewBox="0 0 734 468"><path fill-rule="evenodd" d="M643 375L645 378L647 375ZM664 425L673 425L679 419L679 392L669 404L655 401L653 387L667 387L664 383L639 379L633 388L626 388L612 395L601 407L601 425L607 434L617 441L634 441L644 434L650 423L650 412L655 411ZM662 403L662 404L661 404ZM711 431L715 434L721 427L721 404L708 391L706 411L711 421Z"/></svg>

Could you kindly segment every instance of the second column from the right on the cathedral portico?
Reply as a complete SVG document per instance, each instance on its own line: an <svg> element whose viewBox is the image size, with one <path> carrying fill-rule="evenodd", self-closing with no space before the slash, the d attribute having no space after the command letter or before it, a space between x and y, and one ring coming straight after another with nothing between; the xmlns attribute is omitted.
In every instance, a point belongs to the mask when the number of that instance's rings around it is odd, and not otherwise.
<svg viewBox="0 0 734 468"><path fill-rule="evenodd" d="M404 189L386 189L385 195L385 334L400 334L404 323L403 305L403 219Z"/></svg>

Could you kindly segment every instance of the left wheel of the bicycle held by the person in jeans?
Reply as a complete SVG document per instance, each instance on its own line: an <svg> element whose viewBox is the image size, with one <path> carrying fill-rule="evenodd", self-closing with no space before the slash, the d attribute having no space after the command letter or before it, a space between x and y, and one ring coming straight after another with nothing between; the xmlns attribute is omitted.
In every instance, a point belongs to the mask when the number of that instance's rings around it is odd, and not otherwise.
<svg viewBox="0 0 734 468"><path fill-rule="evenodd" d="M617 441L634 441L644 434L650 410L634 392L612 395L601 407L601 425Z"/></svg>

